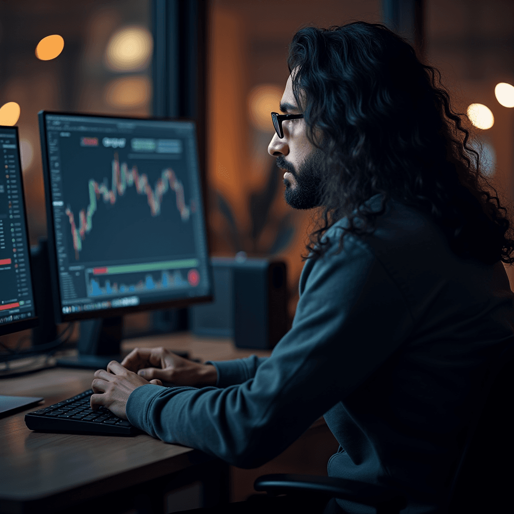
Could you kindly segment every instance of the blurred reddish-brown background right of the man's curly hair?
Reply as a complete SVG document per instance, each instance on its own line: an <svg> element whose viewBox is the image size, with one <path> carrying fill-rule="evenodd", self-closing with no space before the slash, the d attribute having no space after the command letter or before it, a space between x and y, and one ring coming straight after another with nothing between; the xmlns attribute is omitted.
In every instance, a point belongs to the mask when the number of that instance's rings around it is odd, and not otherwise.
<svg viewBox="0 0 514 514"><path fill-rule="evenodd" d="M514 108L494 96L499 82L514 85L514 2L511 0L428 0L426 55L443 73L458 111L471 103L491 109L494 124L474 132L493 152L491 178L504 203L512 205ZM514 289L514 266L507 267Z"/></svg>

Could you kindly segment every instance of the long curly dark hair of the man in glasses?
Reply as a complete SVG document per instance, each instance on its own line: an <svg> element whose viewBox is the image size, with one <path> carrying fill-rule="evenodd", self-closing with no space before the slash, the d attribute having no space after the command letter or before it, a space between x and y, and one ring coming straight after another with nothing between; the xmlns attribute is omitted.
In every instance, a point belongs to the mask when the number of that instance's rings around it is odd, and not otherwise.
<svg viewBox="0 0 514 514"><path fill-rule="evenodd" d="M320 206L324 226L309 255L323 256L323 233L346 216L346 233L372 233L387 201L432 215L451 249L488 264L511 264L509 212L481 170L470 133L450 106L440 72L386 26L354 22L306 27L287 61L307 137L326 155ZM382 209L365 201L382 195Z"/></svg>

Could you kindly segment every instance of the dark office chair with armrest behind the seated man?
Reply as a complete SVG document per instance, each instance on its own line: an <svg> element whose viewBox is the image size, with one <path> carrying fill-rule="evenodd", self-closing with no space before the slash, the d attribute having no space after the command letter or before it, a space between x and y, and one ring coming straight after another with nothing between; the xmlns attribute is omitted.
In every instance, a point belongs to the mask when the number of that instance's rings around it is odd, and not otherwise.
<svg viewBox="0 0 514 514"><path fill-rule="evenodd" d="M500 514L513 510L514 502L509 495L514 475L514 437L510 418L513 356L513 348L502 353L497 365L493 366L490 379L484 384L482 397L476 401L477 416L464 438L466 443L442 510L445 514ZM263 475L255 480L254 487L271 495L285 493L305 498L313 505L316 501L323 505L331 498L350 500L375 507L377 514L398 514L407 503L399 492L331 476Z"/></svg>

